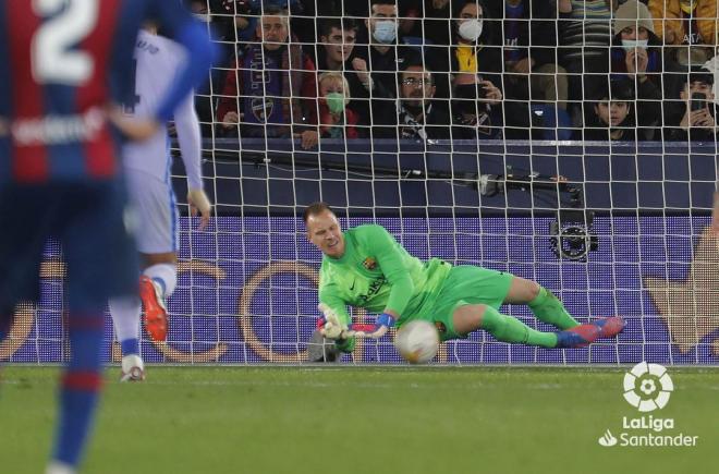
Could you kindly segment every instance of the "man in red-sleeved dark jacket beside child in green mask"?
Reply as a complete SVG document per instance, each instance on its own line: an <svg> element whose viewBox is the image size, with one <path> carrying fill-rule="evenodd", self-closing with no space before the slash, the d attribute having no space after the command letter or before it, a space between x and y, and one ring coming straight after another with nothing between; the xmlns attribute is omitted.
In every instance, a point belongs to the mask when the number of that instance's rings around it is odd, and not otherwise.
<svg viewBox="0 0 719 474"><path fill-rule="evenodd" d="M303 148L317 144L315 64L296 44L288 44L288 15L266 7L257 25L261 42L247 47L228 72L218 121L242 137L298 136Z"/></svg>

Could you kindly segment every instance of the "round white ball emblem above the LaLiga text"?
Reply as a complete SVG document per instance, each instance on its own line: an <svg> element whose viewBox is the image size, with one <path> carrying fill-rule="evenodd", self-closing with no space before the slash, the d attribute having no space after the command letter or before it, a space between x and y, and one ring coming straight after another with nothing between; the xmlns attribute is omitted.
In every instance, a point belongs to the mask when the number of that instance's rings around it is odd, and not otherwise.
<svg viewBox="0 0 719 474"><path fill-rule="evenodd" d="M662 365L639 362L624 374L624 400L641 412L663 409L673 390L674 384Z"/></svg>

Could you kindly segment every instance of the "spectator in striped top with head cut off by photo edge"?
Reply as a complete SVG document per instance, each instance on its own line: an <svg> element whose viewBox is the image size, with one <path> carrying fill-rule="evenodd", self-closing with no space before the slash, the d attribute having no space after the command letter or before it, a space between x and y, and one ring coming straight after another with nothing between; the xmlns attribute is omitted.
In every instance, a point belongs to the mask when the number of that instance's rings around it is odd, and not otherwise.
<svg viewBox="0 0 719 474"><path fill-rule="evenodd" d="M559 64L568 73L568 99L574 122L582 122L583 90L606 81L617 0L558 0ZM594 81L594 83L593 83Z"/></svg>

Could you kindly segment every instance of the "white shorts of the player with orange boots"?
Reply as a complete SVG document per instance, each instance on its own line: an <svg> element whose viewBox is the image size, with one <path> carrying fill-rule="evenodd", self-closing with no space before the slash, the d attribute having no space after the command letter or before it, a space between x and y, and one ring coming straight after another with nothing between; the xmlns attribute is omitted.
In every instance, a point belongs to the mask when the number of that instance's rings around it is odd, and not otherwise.
<svg viewBox="0 0 719 474"><path fill-rule="evenodd" d="M178 252L178 206L171 182L126 169L130 203L135 211L135 241L143 254Z"/></svg>

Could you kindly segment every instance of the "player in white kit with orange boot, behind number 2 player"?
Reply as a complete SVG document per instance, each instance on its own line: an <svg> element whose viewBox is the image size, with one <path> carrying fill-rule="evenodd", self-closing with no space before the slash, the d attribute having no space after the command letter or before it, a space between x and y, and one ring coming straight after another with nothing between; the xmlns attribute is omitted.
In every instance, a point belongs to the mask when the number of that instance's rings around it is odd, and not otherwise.
<svg viewBox="0 0 719 474"><path fill-rule="evenodd" d="M141 31L135 44L135 92L125 106L125 112L135 117L151 117L185 62L185 51L180 45L154 33L154 27ZM211 205L203 190L199 121L192 94L173 111L173 118L187 173L187 204L193 216L197 211L202 215L199 229L203 230L209 222ZM153 339L164 341L166 299L178 282L178 209L170 178L172 156L167 126L162 124L146 141L126 144L123 165L130 203L137 219L135 241L143 275L139 297L133 294L111 299L110 313L122 348L121 380L138 381L145 379L139 356L141 299L145 328Z"/></svg>

